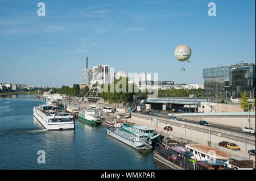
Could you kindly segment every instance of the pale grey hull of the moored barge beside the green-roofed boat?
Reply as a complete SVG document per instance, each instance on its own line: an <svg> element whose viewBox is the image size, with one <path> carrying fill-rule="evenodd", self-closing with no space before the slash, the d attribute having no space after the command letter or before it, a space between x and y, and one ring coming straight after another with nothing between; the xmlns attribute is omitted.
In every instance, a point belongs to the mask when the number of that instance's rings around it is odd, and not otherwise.
<svg viewBox="0 0 256 181"><path fill-rule="evenodd" d="M107 134L109 136L112 136L114 138L116 138L117 140L119 141L122 141L124 142L125 144L135 148L135 149L139 149L139 150L151 150L150 148L148 148L147 146L144 146L142 144L142 142L133 142L133 141L130 141L130 140L127 140L126 138L123 138L121 136L119 136L118 134L114 133L113 131L110 131L109 129L107 130Z"/></svg>

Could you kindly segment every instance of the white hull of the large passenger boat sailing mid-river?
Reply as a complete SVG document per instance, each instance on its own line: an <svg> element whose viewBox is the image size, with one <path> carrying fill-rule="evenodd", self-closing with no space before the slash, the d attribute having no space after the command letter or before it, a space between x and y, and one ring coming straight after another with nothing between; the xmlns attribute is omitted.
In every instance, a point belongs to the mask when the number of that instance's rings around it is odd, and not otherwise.
<svg viewBox="0 0 256 181"><path fill-rule="evenodd" d="M44 128L48 130L64 130L64 129L75 129L75 124L71 122L62 122L62 123L47 123L36 110L33 111L34 117L43 125Z"/></svg>

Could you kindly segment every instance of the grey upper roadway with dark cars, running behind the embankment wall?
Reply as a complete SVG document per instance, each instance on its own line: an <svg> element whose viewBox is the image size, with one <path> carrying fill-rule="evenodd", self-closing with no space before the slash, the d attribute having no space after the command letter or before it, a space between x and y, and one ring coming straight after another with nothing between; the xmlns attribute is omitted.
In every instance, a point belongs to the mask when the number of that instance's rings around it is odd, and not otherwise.
<svg viewBox="0 0 256 181"><path fill-rule="evenodd" d="M140 113L142 115L146 115L146 110L143 110ZM163 117L163 118L167 117L168 119L171 119L171 116L168 116L168 115L164 116L164 115L155 114L155 113L160 113L160 111L158 111L158 112L150 111L150 113L151 113L152 116L158 116L158 117ZM169 111L169 113L170 113L170 111ZM177 120L178 121L183 121L183 122L185 121L185 123L199 124L198 121L194 121L194 120L188 120L188 119L177 119ZM255 134L242 132L242 129L235 128L235 127L223 127L222 125L219 125L219 124L210 124L210 127L217 128L217 129L223 129L223 130L226 130L226 131L232 131L232 132L236 132L236 133L242 133L242 134L246 134L246 135L249 135L249 136L255 136Z"/></svg>

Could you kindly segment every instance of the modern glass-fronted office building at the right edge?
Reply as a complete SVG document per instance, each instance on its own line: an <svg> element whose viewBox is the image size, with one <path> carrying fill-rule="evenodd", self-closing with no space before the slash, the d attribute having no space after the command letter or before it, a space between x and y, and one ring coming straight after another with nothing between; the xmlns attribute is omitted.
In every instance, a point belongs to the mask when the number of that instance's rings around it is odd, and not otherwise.
<svg viewBox="0 0 256 181"><path fill-rule="evenodd" d="M212 102L237 99L255 87L255 64L236 64L203 69L205 97Z"/></svg>

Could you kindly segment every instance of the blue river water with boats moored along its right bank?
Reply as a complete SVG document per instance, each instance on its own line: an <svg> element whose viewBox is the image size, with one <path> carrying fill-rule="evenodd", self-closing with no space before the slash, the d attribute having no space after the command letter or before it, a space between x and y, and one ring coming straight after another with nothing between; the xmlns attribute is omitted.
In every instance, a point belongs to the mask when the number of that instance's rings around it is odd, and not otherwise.
<svg viewBox="0 0 256 181"><path fill-rule="evenodd" d="M153 152L135 150L106 128L76 121L75 131L47 131L32 114L35 95L0 98L0 169L168 169ZM38 151L46 163L38 163Z"/></svg>

